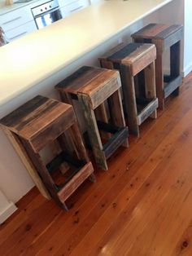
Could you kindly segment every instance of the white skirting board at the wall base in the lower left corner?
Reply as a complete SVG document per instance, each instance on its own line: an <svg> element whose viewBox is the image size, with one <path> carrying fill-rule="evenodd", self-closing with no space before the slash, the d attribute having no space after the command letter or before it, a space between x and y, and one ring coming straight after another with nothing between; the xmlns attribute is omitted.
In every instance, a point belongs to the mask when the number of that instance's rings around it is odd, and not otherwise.
<svg viewBox="0 0 192 256"><path fill-rule="evenodd" d="M17 210L13 202L8 201L7 197L0 190L0 224L2 224L8 217Z"/></svg>

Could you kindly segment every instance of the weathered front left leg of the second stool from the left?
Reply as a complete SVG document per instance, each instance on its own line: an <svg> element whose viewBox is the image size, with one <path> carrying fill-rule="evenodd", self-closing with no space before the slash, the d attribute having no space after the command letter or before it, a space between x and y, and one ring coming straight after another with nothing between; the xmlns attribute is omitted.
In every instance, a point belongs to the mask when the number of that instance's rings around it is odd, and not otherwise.
<svg viewBox="0 0 192 256"><path fill-rule="evenodd" d="M95 161L104 170L107 170L107 161L103 152L103 144L98 132L98 125L94 115L94 110L89 106L89 99L85 95L78 95L78 99L84 110L85 120L87 123L89 139L92 144Z"/></svg>

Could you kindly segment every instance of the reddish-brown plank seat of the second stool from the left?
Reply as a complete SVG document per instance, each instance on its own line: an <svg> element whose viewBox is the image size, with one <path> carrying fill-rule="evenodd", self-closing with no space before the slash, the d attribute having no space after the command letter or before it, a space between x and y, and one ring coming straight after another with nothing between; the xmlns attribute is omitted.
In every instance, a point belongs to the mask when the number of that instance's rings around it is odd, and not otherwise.
<svg viewBox="0 0 192 256"><path fill-rule="evenodd" d="M78 77L78 79L77 79ZM83 66L55 88L73 95L86 95L91 108L97 108L120 88L119 73L115 70ZM119 78L120 79L120 78Z"/></svg>

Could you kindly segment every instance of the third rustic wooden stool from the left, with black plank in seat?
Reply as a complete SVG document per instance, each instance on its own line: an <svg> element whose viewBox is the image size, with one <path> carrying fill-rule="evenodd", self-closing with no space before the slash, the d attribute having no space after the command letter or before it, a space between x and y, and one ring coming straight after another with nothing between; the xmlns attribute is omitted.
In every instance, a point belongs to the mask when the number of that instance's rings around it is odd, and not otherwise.
<svg viewBox="0 0 192 256"><path fill-rule="evenodd" d="M139 126L147 117L157 117L155 58L155 45L142 43L120 44L99 58L103 68L120 70L124 112L130 133L137 136Z"/></svg>

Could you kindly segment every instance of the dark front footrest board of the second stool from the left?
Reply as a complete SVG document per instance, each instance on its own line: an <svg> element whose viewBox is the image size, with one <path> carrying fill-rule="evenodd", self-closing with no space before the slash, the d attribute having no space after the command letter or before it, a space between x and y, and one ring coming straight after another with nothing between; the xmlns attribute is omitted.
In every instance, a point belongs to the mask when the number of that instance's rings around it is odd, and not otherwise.
<svg viewBox="0 0 192 256"><path fill-rule="evenodd" d="M128 138L129 130L128 127L119 128L119 130L111 136L103 145L103 152L106 158L111 157L111 155L124 143L125 139Z"/></svg>

